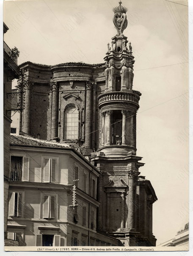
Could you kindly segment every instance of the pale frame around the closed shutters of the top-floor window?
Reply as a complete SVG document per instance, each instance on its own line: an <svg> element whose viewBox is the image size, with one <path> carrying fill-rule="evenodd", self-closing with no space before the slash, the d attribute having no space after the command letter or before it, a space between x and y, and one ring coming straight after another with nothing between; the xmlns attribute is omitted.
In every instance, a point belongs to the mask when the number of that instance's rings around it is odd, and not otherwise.
<svg viewBox="0 0 193 256"><path fill-rule="evenodd" d="M45 174L45 159L50 159L50 173L49 173L49 181L44 180L44 174ZM55 180L51 180L51 166L52 166L52 160L55 160ZM44 183L59 183L59 156L52 156L52 155L42 155L41 156L41 182Z"/></svg>

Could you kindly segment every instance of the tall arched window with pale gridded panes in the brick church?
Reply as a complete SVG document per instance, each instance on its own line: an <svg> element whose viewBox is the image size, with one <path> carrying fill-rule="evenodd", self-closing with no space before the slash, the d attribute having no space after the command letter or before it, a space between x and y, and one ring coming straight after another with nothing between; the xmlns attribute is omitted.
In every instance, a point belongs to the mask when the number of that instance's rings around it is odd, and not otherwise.
<svg viewBox="0 0 193 256"><path fill-rule="evenodd" d="M64 139L78 139L78 111L75 107L64 111Z"/></svg>

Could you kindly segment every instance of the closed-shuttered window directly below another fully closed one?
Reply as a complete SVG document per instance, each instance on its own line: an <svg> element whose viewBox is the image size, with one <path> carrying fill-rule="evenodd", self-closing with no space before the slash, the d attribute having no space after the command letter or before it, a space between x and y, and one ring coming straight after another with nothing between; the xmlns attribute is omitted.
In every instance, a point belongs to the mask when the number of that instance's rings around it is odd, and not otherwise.
<svg viewBox="0 0 193 256"><path fill-rule="evenodd" d="M55 196L44 195L43 197L43 218L55 218Z"/></svg>

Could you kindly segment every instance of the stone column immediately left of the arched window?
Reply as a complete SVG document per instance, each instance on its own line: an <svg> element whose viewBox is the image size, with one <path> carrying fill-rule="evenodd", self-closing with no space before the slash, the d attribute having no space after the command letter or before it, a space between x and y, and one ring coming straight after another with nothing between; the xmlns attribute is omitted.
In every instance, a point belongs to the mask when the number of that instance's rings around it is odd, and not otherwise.
<svg viewBox="0 0 193 256"><path fill-rule="evenodd" d="M51 139L58 137L58 85L52 83Z"/></svg>

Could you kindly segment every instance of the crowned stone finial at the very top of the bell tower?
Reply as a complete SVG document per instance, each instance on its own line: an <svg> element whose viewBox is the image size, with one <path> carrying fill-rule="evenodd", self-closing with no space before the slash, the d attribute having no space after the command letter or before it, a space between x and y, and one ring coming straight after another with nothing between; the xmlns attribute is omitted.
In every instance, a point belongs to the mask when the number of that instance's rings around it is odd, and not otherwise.
<svg viewBox="0 0 193 256"><path fill-rule="evenodd" d="M127 28L127 8L121 6L122 2L119 2L119 6L113 8L114 16L113 16L113 23L117 29L117 36L123 34L125 28Z"/></svg>

